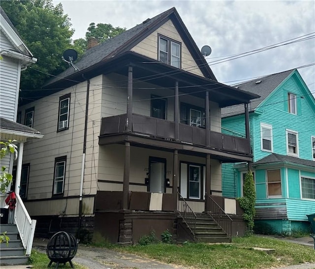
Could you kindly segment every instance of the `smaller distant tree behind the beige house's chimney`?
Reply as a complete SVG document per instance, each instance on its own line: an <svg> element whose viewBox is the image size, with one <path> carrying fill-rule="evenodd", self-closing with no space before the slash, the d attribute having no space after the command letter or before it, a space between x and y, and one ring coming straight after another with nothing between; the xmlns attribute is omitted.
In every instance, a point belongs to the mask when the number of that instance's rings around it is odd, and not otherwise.
<svg viewBox="0 0 315 269"><path fill-rule="evenodd" d="M73 41L74 47L78 52L79 58L87 49L88 39L90 37L95 37L98 43L103 43L109 38L112 38L116 35L121 34L126 31L126 28L121 27L113 27L111 24L103 24L98 23L90 23L88 27L88 31L85 33L85 38L75 39Z"/></svg>

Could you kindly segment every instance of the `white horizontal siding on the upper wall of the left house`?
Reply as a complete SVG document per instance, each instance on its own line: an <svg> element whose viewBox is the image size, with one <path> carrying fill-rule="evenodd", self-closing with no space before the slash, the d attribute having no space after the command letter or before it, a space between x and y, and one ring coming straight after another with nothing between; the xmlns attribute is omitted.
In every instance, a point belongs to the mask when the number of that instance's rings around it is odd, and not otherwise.
<svg viewBox="0 0 315 269"><path fill-rule="evenodd" d="M2 31L0 31L0 49L13 49ZM20 72L21 64L18 60L2 56L0 61L0 116L7 120L16 120Z"/></svg>

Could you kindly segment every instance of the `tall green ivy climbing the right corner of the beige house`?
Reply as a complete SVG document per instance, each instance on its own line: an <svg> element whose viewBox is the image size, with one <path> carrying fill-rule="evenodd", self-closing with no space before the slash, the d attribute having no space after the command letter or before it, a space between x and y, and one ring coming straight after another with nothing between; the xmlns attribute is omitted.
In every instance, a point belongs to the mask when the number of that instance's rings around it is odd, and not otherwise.
<svg viewBox="0 0 315 269"><path fill-rule="evenodd" d="M244 197L238 198L238 201L240 202L240 207L244 209L243 219L246 222L247 234L252 234L256 203L256 191L252 171L249 171L245 176L243 193Z"/></svg>

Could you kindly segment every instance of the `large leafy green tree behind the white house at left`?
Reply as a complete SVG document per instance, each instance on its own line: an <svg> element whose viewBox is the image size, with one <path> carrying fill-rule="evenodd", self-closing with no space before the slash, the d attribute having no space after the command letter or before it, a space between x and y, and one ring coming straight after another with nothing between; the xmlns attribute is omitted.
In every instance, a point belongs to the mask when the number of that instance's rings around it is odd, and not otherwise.
<svg viewBox="0 0 315 269"><path fill-rule="evenodd" d="M61 57L72 47L74 30L62 4L54 6L52 0L1 1L1 7L37 58L21 73L20 89L25 96L23 90L40 89L51 78L49 74L57 75L68 67Z"/></svg>

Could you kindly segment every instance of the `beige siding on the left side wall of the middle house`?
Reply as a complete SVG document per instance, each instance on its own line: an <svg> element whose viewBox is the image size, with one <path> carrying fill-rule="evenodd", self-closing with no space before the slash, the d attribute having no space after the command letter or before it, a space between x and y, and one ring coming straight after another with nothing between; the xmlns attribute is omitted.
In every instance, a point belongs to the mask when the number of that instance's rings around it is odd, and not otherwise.
<svg viewBox="0 0 315 269"><path fill-rule="evenodd" d="M98 144L95 137L99 135L100 126L100 100L101 100L102 76L91 79L90 106L87 130L87 150L84 175L84 195L96 193L96 177L98 156ZM80 175L83 155L83 138L85 123L87 82L59 91L55 94L34 101L20 108L22 120L25 117L25 110L34 107L33 128L39 130L44 137L40 140L30 140L24 147L23 163L30 163L30 179L28 188L28 200L49 199L52 197L55 158L66 155L66 175L63 197L77 196L80 193ZM59 97L71 93L69 129L57 132ZM92 146L95 148L91 148ZM68 201L73 200L69 199ZM78 199L75 199L78 203ZM40 215L42 202L27 203L32 212ZM49 205L58 204L61 209L64 199L47 202ZM70 203L71 204L71 203ZM76 214L76 207L67 203L69 214ZM93 207L90 208L93 212ZM46 210L44 214L51 212ZM32 213L31 213L32 214Z"/></svg>

